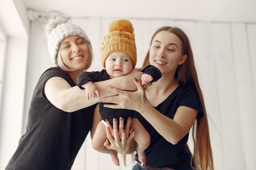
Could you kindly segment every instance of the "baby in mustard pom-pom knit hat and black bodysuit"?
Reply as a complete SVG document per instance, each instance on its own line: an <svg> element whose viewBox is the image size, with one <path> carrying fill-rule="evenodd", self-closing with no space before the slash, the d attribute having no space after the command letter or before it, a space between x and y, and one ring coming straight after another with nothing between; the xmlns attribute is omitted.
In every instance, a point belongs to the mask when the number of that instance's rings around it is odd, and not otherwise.
<svg viewBox="0 0 256 170"><path fill-rule="evenodd" d="M81 89L85 89L87 98L94 98L95 95L100 97L99 91L94 82L103 81L127 75L132 71L137 62L137 50L134 38L134 29L132 23L128 20L114 20L109 26L109 33L103 39L101 47L101 62L105 69L102 71L86 72L84 71L77 77L77 86ZM146 66L143 69L141 75L141 81L143 84L157 81L161 76L161 72L155 66ZM137 153L139 161L143 164L146 163L146 156L144 150L148 148L150 144L150 135L142 124L134 117L135 110L128 109L112 109L105 108L105 103L99 103L99 112L101 114L101 122L97 125L95 133L92 137L92 147L104 153L109 153L113 162L119 165L116 159L116 155L107 150L103 145L107 139L105 126L106 119L112 124L113 118L117 118L119 124L119 117L124 118L124 124L126 124L129 117L132 118L131 128L136 131L134 137L137 143Z"/></svg>

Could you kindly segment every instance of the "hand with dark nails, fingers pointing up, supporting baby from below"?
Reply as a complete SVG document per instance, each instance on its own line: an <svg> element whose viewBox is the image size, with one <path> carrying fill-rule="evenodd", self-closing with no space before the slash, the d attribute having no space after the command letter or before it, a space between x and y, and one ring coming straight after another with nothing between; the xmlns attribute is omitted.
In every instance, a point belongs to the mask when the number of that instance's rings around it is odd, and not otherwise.
<svg viewBox="0 0 256 170"><path fill-rule="evenodd" d="M130 154L135 150L135 131L130 129L131 118L127 120L126 127L124 128L124 119L119 119L119 130L117 128L117 119L113 119L113 127L106 121L108 127L106 127L106 134L108 139L104 142L104 146L111 150L116 150L122 155Z"/></svg>

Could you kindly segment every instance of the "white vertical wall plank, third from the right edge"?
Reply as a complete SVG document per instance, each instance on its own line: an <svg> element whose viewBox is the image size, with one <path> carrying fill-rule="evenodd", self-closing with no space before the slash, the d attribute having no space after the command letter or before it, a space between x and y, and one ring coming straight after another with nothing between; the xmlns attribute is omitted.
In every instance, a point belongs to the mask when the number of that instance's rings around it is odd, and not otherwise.
<svg viewBox="0 0 256 170"><path fill-rule="evenodd" d="M212 48L209 49L216 62L218 102L221 115L224 169L245 169L238 108L236 75L234 73L233 49L230 25L216 23L211 28ZM239 162L238 164L236 162Z"/></svg>

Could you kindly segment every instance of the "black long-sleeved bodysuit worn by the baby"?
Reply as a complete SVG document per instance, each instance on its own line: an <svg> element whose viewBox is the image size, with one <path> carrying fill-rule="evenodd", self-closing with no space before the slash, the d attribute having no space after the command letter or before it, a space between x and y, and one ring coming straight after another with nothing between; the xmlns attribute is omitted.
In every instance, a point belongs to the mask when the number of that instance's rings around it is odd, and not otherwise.
<svg viewBox="0 0 256 170"><path fill-rule="evenodd" d="M142 70L143 74L149 74L153 77L153 80L151 82L157 81L159 78L162 77L161 71L152 65L146 66ZM92 72L87 72L84 71L81 73L77 79L77 86L81 88L82 90L84 89L82 85L86 84L87 82L100 82L103 80L110 79L107 71L105 69L99 71L92 71ZM119 124L119 117L124 117L124 126L126 125L128 117L135 117L135 110L128 110L128 109L112 109L112 108L106 108L103 105L104 104L111 104L111 103L99 103L99 112L101 113L101 119L106 120L110 122L110 124L113 126L113 118L117 118L117 124Z"/></svg>

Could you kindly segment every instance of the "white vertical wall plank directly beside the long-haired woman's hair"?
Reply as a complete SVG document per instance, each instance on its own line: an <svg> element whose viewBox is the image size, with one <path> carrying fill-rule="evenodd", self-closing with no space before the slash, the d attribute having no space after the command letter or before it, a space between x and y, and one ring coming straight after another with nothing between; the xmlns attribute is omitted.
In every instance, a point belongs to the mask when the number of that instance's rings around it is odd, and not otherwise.
<svg viewBox="0 0 256 170"><path fill-rule="evenodd" d="M196 26L194 60L197 66L200 87L204 95L204 102L208 115L211 146L213 150L213 163L216 170L224 170L222 157L222 142L220 139L220 107L218 105L218 89L216 77L216 62L213 49L216 36L211 29L211 23L198 22ZM193 43L193 42L192 42Z"/></svg>

